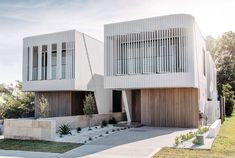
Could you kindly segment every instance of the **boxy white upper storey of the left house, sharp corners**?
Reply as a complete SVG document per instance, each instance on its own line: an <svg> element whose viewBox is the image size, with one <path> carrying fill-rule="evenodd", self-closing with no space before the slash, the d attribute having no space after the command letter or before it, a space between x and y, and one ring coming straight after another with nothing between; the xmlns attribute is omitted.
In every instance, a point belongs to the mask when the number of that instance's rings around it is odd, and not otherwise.
<svg viewBox="0 0 235 158"><path fill-rule="evenodd" d="M23 89L94 91L104 74L103 56L102 42L76 30L26 37Z"/></svg>

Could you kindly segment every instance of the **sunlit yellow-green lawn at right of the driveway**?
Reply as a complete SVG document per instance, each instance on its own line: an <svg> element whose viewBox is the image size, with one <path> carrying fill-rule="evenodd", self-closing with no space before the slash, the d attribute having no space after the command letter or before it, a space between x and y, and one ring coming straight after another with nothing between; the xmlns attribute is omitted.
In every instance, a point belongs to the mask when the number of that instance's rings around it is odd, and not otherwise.
<svg viewBox="0 0 235 158"><path fill-rule="evenodd" d="M227 158L235 157L235 112L225 119L211 150L162 148L153 158Z"/></svg>

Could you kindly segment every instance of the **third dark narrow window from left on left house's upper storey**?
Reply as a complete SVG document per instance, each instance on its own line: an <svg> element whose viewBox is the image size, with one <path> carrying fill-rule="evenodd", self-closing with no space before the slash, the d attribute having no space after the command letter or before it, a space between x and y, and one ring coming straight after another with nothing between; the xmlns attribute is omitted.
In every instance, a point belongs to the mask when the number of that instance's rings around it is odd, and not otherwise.
<svg viewBox="0 0 235 158"><path fill-rule="evenodd" d="M51 78L56 79L57 45L51 45Z"/></svg>

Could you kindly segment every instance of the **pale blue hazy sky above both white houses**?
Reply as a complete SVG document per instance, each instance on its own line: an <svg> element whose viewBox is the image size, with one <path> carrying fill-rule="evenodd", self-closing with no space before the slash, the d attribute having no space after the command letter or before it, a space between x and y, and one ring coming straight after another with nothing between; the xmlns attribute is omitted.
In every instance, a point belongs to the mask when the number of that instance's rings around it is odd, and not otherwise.
<svg viewBox="0 0 235 158"><path fill-rule="evenodd" d="M234 0L0 0L0 83L21 80L22 39L76 29L103 41L103 24L193 15L204 36L235 31Z"/></svg>

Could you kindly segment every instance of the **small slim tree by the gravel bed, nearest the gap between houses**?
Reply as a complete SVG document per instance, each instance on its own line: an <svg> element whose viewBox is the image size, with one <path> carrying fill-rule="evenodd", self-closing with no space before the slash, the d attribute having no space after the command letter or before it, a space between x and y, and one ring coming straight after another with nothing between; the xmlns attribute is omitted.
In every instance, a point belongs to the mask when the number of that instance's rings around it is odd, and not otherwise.
<svg viewBox="0 0 235 158"><path fill-rule="evenodd" d="M85 97L83 104L84 104L83 112L85 115L88 116L88 126L89 126L89 129L91 129L90 121L91 121L91 118L93 117L93 114L95 114L95 112L96 112L95 100L94 100L93 95L88 94Z"/></svg>

